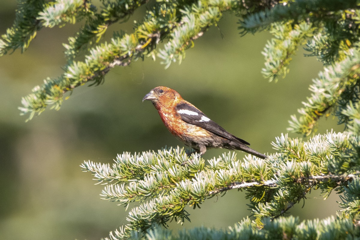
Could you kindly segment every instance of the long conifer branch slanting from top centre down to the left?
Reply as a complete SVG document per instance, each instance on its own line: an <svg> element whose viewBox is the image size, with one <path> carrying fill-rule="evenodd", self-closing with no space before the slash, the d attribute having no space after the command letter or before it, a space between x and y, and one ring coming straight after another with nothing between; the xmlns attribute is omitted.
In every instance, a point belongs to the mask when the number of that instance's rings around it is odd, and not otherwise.
<svg viewBox="0 0 360 240"><path fill-rule="evenodd" d="M167 66L172 61L181 61L185 49L193 44L193 40L202 36L211 25L216 24L223 11L236 6L235 0L213 5L199 2L192 4L191 8L186 8L179 22L176 22L174 9L169 9L166 4L155 6L153 11L149 11L144 22L135 28L133 34L121 34L114 37L110 43L91 49L84 62L71 62L66 67L66 72L58 79L48 78L44 85L36 86L32 94L22 99L23 107L19 109L22 114L30 114L28 120L36 113L44 111L49 104L52 104L51 108L58 110L66 92L90 81L98 85L103 82L105 74L112 67L126 66L143 56L154 55L153 51L158 42L166 38L170 38L169 42L172 43L167 44L165 50L160 50L159 56L165 59ZM154 16L157 18L154 19ZM75 40L71 41L75 44ZM73 51L73 54L76 53Z"/></svg>

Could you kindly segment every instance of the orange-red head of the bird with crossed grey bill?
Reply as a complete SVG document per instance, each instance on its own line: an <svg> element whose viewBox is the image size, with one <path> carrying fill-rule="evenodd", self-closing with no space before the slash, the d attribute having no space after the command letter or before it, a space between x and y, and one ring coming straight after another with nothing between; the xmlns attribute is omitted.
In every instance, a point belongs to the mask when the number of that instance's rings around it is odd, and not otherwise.
<svg viewBox="0 0 360 240"><path fill-rule="evenodd" d="M180 94L174 89L160 86L155 87L147 95L145 95L143 101L150 100L156 106L158 104L174 103L180 98Z"/></svg>

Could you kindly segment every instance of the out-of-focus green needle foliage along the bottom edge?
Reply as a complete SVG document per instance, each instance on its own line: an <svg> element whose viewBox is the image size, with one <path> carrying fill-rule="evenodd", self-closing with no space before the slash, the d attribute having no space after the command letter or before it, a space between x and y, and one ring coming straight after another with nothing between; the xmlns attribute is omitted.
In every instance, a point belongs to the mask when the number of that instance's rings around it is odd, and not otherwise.
<svg viewBox="0 0 360 240"><path fill-rule="evenodd" d="M214 228L197 227L191 230L179 231L172 234L170 230L154 227L147 230L144 240L150 239L226 239L226 240L247 240L247 239L357 239L359 228L355 227L350 219L328 218L321 221L303 221L294 217L280 217L275 221L265 219L262 230L254 228L248 218L230 227L227 231L220 231ZM326 229L325 231L323 231ZM130 239L140 239L136 234Z"/></svg>

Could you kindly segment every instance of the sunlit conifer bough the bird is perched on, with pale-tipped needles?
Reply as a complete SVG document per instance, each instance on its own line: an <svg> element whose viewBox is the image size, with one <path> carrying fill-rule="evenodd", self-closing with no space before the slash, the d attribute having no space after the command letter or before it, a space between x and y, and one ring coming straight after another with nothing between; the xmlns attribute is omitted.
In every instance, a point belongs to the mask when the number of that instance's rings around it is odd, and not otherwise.
<svg viewBox="0 0 360 240"><path fill-rule="evenodd" d="M230 189L247 191L257 226L262 226L266 217L281 216L306 198L312 188L320 188L325 197L332 190L348 191L341 206L345 208L344 216L355 219L359 214L354 208L360 199L356 192L360 182L348 185L348 181L358 179L360 173L360 158L352 145L356 141L348 133L329 132L306 142L282 135L273 142L278 153L265 160L248 155L241 161L229 153L205 164L197 154L188 157L177 147L123 153L112 166L85 161L81 167L93 173L99 183L116 181L104 187L104 200L126 207L134 201L141 203L130 210L129 224L111 234L116 238L145 232L154 224L167 226L172 219L179 223L190 220L187 205L199 207L207 198Z"/></svg>

